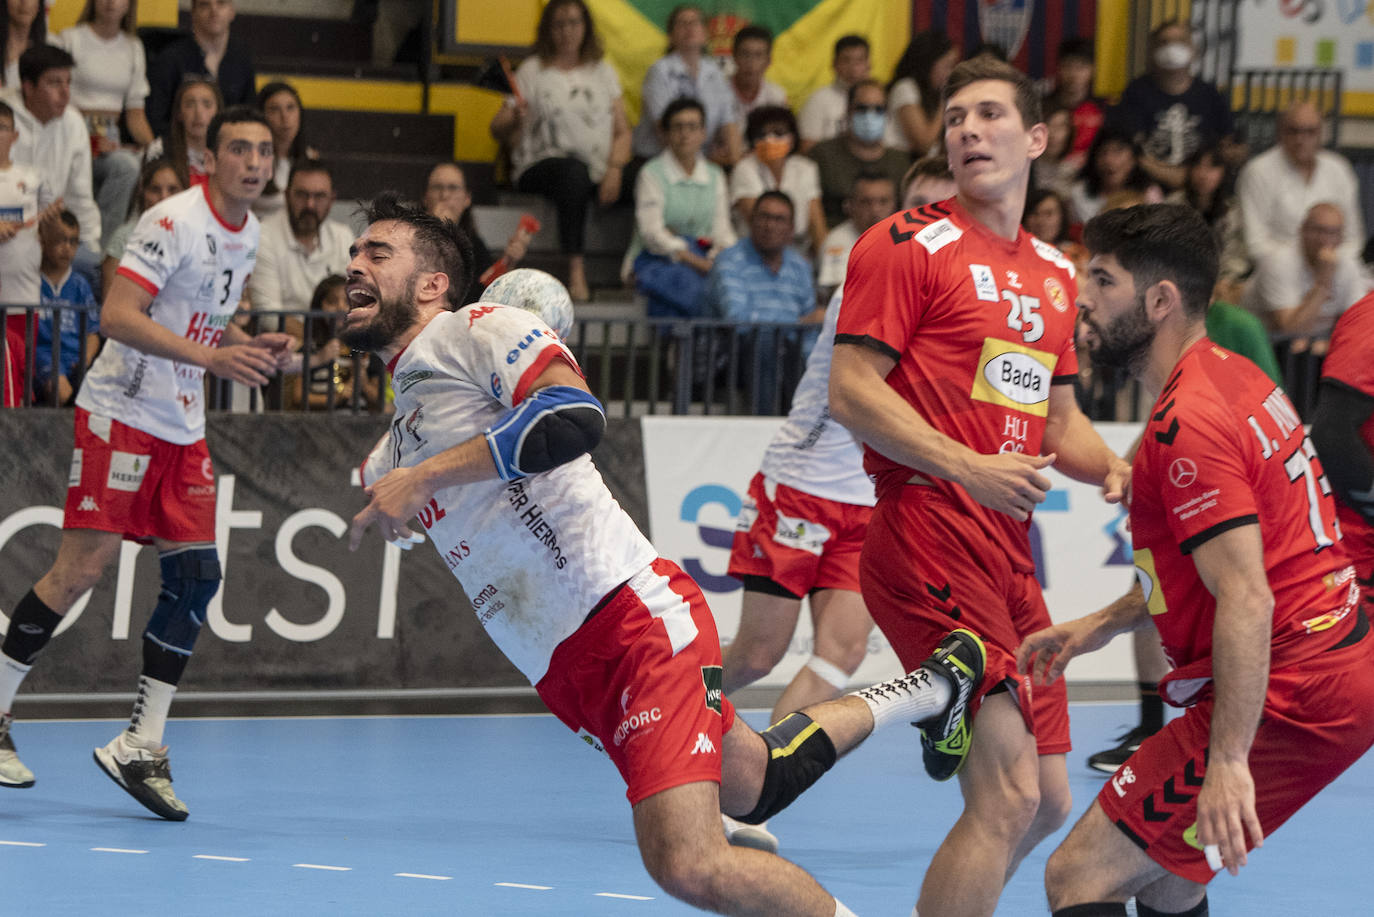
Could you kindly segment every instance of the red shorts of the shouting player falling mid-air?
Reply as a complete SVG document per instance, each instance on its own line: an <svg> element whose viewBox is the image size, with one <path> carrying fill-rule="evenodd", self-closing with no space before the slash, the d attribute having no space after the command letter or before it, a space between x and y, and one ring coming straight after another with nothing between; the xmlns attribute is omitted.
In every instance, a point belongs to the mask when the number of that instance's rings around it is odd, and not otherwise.
<svg viewBox="0 0 1374 917"><path fill-rule="evenodd" d="M720 638L706 598L658 558L554 650L534 686L558 719L610 755L633 806L720 782L735 708L721 692Z"/></svg>

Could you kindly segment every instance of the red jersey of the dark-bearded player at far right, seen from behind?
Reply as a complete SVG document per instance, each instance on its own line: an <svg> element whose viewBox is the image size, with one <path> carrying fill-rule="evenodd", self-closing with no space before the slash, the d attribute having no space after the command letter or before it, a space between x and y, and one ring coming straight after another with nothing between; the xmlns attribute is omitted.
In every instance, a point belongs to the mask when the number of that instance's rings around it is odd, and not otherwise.
<svg viewBox="0 0 1374 917"><path fill-rule="evenodd" d="M1216 617L1189 554L1227 529L1260 527L1274 668L1349 631L1358 590L1331 488L1293 404L1245 357L1208 338L1187 349L1146 423L1131 494L1136 576L1182 694L1205 682L1179 679L1210 676Z"/></svg>

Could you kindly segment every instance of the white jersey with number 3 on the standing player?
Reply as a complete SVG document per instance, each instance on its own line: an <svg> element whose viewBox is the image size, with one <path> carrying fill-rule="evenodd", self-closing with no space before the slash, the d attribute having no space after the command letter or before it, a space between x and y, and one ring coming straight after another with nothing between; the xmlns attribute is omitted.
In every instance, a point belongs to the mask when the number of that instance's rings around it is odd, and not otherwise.
<svg viewBox="0 0 1374 917"><path fill-rule="evenodd" d="M218 346L257 260L258 221L231 227L205 186L150 208L129 235L120 275L153 294L148 318L173 334ZM77 404L159 440L205 439L205 370L110 340L87 373Z"/></svg>

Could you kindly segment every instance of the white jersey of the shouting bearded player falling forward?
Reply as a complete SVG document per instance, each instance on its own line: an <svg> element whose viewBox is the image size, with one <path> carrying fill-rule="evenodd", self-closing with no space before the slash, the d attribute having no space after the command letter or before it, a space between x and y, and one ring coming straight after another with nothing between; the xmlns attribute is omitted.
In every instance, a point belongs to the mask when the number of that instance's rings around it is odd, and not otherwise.
<svg viewBox="0 0 1374 917"><path fill-rule="evenodd" d="M532 312L477 302L436 316L390 367L396 414L363 483L481 434L558 359L576 366ZM445 488L419 520L486 632L532 683L596 602L658 557L587 455L514 481Z"/></svg>

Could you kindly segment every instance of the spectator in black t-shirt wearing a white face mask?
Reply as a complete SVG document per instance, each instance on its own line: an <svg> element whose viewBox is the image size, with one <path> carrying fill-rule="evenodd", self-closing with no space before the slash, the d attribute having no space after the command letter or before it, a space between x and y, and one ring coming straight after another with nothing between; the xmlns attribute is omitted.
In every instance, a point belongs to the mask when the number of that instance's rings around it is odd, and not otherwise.
<svg viewBox="0 0 1374 917"><path fill-rule="evenodd" d="M1220 143L1239 168L1246 150L1235 143L1235 120L1216 87L1193 76L1193 33L1171 19L1150 33L1150 66L1121 93L1110 118L1135 135L1145 150L1140 166L1156 181L1183 186L1183 162L1194 151Z"/></svg>

